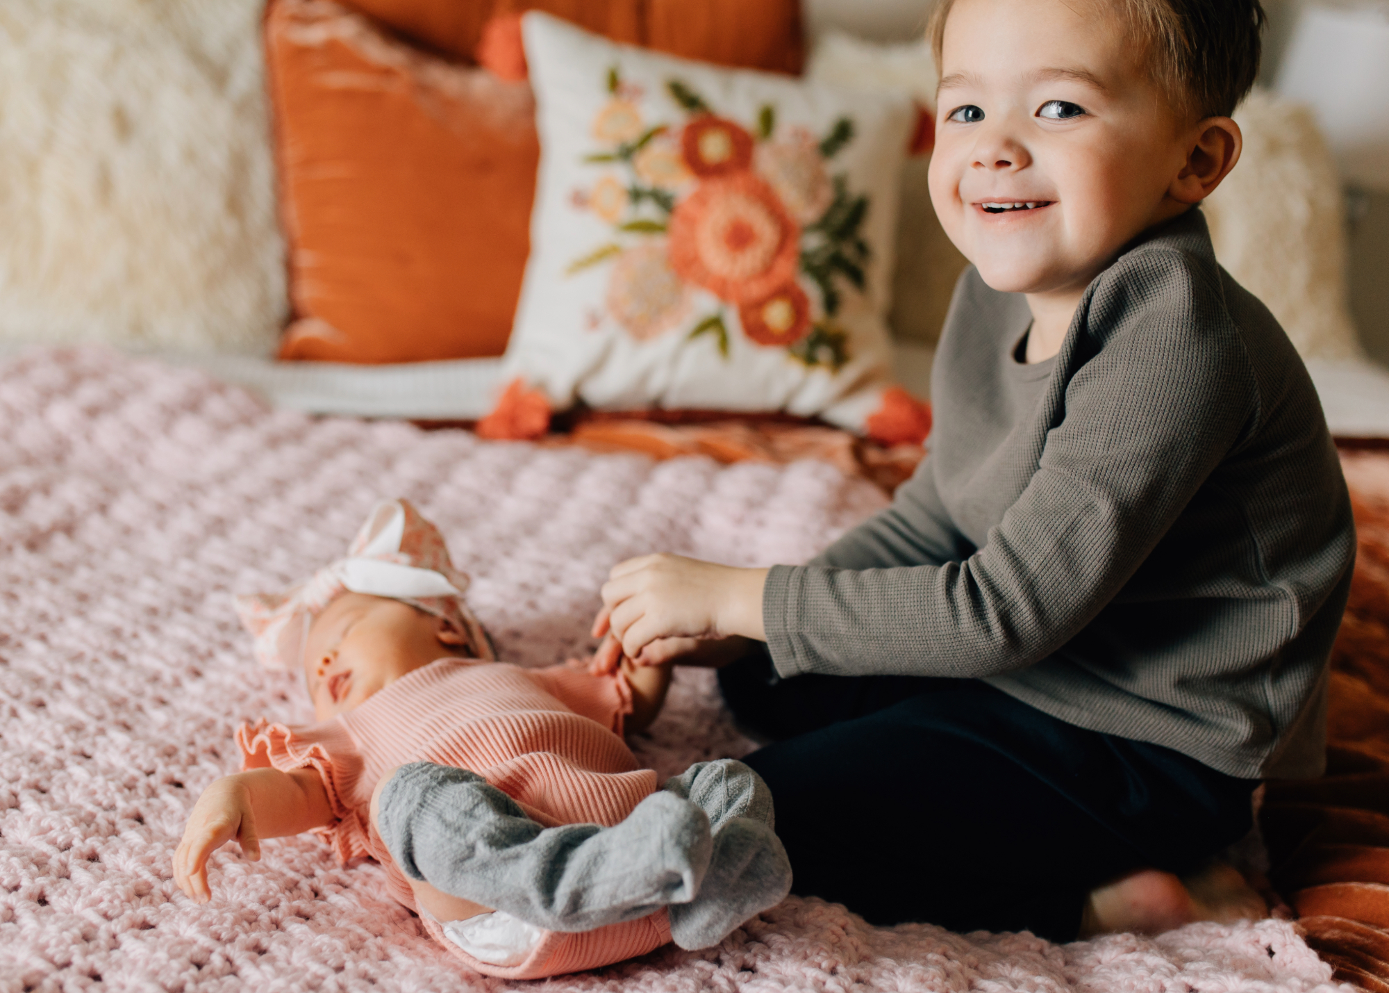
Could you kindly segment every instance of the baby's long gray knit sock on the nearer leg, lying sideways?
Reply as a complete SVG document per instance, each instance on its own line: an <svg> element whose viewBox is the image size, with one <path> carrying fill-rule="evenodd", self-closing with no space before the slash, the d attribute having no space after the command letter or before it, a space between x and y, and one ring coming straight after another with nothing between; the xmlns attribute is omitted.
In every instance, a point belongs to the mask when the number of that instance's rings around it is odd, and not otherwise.
<svg viewBox="0 0 1389 993"><path fill-rule="evenodd" d="M392 776L378 830L407 876L565 932L693 900L713 847L708 818L674 791L653 793L613 828L542 828L482 776L432 762Z"/></svg>

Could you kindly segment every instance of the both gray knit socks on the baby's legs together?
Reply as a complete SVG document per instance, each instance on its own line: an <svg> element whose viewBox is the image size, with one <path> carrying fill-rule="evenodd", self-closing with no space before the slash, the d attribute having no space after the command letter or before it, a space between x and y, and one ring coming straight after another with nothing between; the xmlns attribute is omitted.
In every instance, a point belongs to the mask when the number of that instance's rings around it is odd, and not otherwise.
<svg viewBox="0 0 1389 993"><path fill-rule="evenodd" d="M376 826L411 879L547 930L668 907L675 943L706 948L790 891L771 791L733 759L692 765L611 828L542 828L482 776L413 762L382 790Z"/></svg>

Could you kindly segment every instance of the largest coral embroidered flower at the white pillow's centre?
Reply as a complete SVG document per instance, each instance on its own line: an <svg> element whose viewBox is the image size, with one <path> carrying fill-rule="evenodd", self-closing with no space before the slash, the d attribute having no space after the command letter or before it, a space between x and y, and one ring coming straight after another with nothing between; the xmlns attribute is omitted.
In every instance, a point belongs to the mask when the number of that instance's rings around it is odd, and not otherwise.
<svg viewBox="0 0 1389 993"><path fill-rule="evenodd" d="M671 268L732 303L795 280L800 228L765 181L740 172L701 182L671 214Z"/></svg>

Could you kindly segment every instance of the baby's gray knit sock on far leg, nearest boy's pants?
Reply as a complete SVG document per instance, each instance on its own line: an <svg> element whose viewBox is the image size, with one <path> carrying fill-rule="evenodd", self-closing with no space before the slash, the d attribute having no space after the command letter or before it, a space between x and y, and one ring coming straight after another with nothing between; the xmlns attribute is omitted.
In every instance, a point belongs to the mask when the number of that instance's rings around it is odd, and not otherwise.
<svg viewBox="0 0 1389 993"><path fill-rule="evenodd" d="M707 948L786 898L790 859L772 830L771 790L742 762L699 762L668 779L664 790L704 811L714 834L714 851L697 894L669 907L675 943Z"/></svg>

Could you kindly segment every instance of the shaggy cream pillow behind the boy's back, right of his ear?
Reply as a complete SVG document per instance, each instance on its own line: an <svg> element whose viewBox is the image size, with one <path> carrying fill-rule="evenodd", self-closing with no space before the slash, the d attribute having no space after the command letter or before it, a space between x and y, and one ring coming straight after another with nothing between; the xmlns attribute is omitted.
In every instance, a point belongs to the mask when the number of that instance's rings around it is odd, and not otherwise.
<svg viewBox="0 0 1389 993"><path fill-rule="evenodd" d="M1203 210L1215 257L1304 359L1361 355L1346 286L1345 203L1311 110L1254 92L1235 111L1245 153Z"/></svg>

